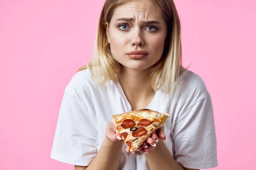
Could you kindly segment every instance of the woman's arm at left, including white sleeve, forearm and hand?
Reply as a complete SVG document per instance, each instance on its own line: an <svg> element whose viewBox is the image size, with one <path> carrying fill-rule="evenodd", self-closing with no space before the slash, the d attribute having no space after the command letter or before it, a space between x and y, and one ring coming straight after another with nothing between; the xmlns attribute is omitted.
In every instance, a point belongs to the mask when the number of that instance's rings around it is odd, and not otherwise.
<svg viewBox="0 0 256 170"><path fill-rule="evenodd" d="M65 92L51 157L76 165L75 170L117 170L123 142L116 137L121 134L115 133L115 125L111 122L106 127L106 138L97 150L99 133L91 107Z"/></svg>

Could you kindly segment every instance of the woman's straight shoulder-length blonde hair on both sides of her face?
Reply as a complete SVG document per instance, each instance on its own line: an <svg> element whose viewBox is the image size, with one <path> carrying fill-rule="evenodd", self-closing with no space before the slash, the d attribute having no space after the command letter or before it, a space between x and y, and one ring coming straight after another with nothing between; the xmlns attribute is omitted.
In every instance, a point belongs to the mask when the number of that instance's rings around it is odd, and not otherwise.
<svg viewBox="0 0 256 170"><path fill-rule="evenodd" d="M99 18L99 25L90 63L78 71L89 69L94 81L104 84L115 79L115 74L121 71L121 65L111 54L107 40L105 23L110 23L114 9L127 0L106 0ZM174 91L174 84L180 76L182 67L181 28L180 19L173 0L152 0L157 6L167 26L166 44L161 59L154 65L151 74L151 85L154 91L165 84L165 91Z"/></svg>

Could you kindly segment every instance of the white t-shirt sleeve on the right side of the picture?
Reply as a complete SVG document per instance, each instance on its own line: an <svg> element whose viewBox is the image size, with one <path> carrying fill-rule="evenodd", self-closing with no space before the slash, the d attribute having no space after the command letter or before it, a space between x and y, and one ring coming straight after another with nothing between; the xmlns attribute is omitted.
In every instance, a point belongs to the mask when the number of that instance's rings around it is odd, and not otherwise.
<svg viewBox="0 0 256 170"><path fill-rule="evenodd" d="M216 167L216 135L211 97L188 106L175 120L172 140L174 159L183 167L207 169Z"/></svg>

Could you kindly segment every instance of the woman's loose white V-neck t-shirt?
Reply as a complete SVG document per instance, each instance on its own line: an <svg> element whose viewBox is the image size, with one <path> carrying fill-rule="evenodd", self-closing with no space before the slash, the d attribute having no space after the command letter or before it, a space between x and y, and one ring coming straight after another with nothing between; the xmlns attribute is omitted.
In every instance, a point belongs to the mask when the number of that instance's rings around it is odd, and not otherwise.
<svg viewBox="0 0 256 170"><path fill-rule="evenodd" d="M192 71L179 78L170 99L158 90L147 109L168 111L164 141L174 159L183 167L216 167L217 151L211 97L203 80ZM131 111L118 77L102 86L92 80L89 70L76 73L64 91L51 158L68 164L88 166L105 138L112 115ZM118 170L150 170L145 155L125 152Z"/></svg>

